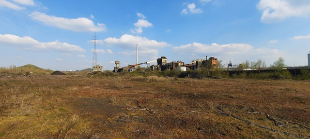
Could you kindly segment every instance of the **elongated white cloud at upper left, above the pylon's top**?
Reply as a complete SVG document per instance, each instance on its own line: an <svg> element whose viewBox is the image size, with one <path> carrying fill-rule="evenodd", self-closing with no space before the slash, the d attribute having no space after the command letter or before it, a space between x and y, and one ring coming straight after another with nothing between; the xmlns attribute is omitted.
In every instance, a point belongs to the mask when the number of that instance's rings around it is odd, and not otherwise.
<svg viewBox="0 0 310 139"><path fill-rule="evenodd" d="M66 30L72 30L76 32L100 32L107 30L105 24L98 23L97 25L94 25L92 20L85 17L69 19L63 17L50 16L40 12L32 12L30 16L33 19L39 20L47 25L55 26Z"/></svg>

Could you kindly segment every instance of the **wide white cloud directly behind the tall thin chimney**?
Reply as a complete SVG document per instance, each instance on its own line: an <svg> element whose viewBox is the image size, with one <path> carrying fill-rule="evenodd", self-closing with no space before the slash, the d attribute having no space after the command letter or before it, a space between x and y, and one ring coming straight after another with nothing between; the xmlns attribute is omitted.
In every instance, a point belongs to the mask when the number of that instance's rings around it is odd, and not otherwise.
<svg viewBox="0 0 310 139"><path fill-rule="evenodd" d="M107 46L117 46L125 49L127 51L118 52L124 55L134 55L136 54L136 46L138 43L139 55L148 57L157 57L158 50L160 48L171 46L167 42L157 42L155 40L149 40L140 36L132 36L124 34L122 37L118 38L107 38L104 40Z"/></svg>

